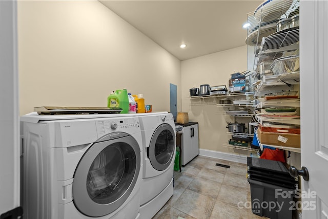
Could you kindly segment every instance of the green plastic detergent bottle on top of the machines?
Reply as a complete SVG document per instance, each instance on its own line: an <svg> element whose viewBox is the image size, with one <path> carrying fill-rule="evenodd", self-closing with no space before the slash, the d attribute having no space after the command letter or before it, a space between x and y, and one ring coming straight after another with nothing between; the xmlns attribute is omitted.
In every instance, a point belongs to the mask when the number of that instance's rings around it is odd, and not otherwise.
<svg viewBox="0 0 328 219"><path fill-rule="evenodd" d="M122 108L120 113L129 112L129 97L126 89L116 90L107 97L107 107L119 107Z"/></svg>

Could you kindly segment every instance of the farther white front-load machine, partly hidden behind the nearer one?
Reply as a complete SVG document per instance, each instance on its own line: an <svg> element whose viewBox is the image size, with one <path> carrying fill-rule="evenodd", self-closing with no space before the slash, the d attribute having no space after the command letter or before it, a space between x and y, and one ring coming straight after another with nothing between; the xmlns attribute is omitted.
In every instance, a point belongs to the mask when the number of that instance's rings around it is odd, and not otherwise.
<svg viewBox="0 0 328 219"><path fill-rule="evenodd" d="M173 195L175 125L171 113L139 116L142 135L140 217L152 218Z"/></svg>

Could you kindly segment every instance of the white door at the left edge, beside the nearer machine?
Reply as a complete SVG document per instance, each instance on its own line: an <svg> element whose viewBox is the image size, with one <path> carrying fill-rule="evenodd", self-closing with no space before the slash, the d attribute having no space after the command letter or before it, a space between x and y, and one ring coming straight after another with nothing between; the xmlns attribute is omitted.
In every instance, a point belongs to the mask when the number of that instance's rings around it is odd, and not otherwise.
<svg viewBox="0 0 328 219"><path fill-rule="evenodd" d="M0 1L0 217L19 208L19 112L16 1Z"/></svg>

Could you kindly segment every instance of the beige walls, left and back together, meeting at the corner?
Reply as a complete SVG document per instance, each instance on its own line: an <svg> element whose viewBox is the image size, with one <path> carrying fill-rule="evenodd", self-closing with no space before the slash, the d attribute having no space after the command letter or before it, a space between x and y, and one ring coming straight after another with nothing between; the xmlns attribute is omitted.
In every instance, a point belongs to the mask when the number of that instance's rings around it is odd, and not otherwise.
<svg viewBox="0 0 328 219"><path fill-rule="evenodd" d="M199 123L200 148L242 152L222 146L233 121L219 99L191 100L189 89L228 85L247 69L247 46L180 62L98 1L19 1L18 58L20 115L36 106L107 106L122 88L144 94L153 111L170 111L173 83L178 111Z"/></svg>

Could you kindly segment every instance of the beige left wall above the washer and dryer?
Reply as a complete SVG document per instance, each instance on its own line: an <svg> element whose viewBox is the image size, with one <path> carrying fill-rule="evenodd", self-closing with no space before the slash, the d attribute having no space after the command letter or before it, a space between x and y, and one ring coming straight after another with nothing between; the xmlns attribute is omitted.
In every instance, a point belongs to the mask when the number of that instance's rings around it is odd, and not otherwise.
<svg viewBox="0 0 328 219"><path fill-rule="evenodd" d="M170 111L170 83L181 98L180 61L98 1L19 1L17 10L20 115L105 107L123 88Z"/></svg>

